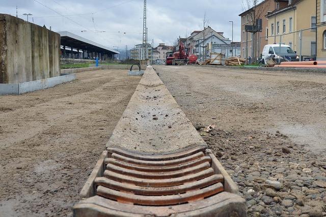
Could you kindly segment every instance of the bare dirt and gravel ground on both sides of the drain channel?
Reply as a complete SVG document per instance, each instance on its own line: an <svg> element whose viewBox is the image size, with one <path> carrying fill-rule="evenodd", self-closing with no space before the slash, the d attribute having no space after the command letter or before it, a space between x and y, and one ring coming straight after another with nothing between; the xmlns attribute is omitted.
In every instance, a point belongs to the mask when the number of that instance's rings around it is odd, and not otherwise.
<svg viewBox="0 0 326 217"><path fill-rule="evenodd" d="M325 214L326 74L154 68L238 184L249 216ZM0 216L70 216L140 79L83 72L1 96Z"/></svg>

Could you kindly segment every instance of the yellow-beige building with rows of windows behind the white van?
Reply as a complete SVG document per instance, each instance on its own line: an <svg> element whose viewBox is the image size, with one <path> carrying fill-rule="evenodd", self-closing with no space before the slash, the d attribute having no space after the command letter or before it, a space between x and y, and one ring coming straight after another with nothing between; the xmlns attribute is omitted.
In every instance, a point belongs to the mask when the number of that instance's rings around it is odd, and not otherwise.
<svg viewBox="0 0 326 217"><path fill-rule="evenodd" d="M266 17L268 44L281 42L292 47L298 55L302 54L303 58L316 57L315 1L290 0L286 7L269 12Z"/></svg>

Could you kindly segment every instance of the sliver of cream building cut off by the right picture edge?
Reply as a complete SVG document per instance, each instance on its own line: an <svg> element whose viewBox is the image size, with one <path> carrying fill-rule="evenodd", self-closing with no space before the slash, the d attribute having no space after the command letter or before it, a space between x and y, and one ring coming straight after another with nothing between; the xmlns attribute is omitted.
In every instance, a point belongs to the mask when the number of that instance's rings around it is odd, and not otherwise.
<svg viewBox="0 0 326 217"><path fill-rule="evenodd" d="M317 60L326 60L326 1L317 0Z"/></svg>

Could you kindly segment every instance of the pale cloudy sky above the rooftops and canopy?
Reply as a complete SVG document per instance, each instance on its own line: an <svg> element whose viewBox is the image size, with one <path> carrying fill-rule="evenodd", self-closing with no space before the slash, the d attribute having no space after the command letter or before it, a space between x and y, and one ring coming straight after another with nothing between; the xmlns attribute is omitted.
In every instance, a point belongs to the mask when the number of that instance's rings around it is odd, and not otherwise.
<svg viewBox="0 0 326 217"><path fill-rule="evenodd" d="M31 13L31 22L55 32L69 31L111 48L142 43L143 0L0 0L0 13L16 15L16 5L18 17L26 19L22 14ZM230 39L229 21L234 21L234 41L239 41L242 11L241 0L147 0L148 38L154 39L154 46L170 45L179 36L201 30L206 12L209 25Z"/></svg>

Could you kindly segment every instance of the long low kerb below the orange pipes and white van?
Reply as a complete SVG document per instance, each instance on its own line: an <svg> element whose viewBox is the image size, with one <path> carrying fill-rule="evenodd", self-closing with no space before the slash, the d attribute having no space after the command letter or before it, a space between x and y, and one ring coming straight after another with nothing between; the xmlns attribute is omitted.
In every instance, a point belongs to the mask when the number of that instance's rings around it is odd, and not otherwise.
<svg viewBox="0 0 326 217"><path fill-rule="evenodd" d="M295 73L323 73L326 74L326 69L303 69L303 68L274 68L274 67L234 67L234 66L210 66L210 65L188 65L192 67L211 67L218 69L237 69L237 70L256 70L270 72L295 72Z"/></svg>

